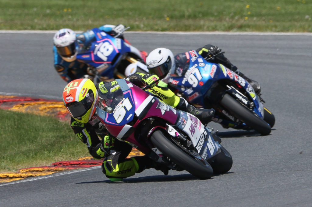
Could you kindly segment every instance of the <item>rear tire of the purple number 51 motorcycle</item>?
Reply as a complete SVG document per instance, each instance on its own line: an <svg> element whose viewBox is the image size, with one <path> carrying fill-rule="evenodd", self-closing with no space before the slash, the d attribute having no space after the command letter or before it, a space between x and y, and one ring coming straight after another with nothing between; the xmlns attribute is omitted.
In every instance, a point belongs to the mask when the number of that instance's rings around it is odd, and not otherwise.
<svg viewBox="0 0 312 207"><path fill-rule="evenodd" d="M208 160L208 163L213 169L213 174L227 173L233 165L233 159L231 154L220 145L221 152L213 157L212 160Z"/></svg>

